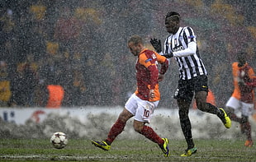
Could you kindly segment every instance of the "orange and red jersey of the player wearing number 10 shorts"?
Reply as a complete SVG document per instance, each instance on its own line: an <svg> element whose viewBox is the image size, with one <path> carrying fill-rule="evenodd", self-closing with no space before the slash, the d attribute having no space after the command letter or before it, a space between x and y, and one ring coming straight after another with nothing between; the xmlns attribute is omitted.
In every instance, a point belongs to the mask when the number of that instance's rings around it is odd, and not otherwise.
<svg viewBox="0 0 256 162"><path fill-rule="evenodd" d="M168 59L149 49L144 49L138 55L136 62L137 95L141 100L149 100L149 90L154 90L154 100L160 100L159 69L158 62L162 64L160 73L164 74L168 69Z"/></svg>

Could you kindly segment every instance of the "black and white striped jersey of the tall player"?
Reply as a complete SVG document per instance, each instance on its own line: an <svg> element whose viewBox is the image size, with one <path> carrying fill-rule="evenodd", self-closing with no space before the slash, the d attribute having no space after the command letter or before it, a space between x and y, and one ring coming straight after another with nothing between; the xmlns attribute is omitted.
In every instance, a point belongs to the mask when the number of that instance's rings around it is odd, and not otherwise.
<svg viewBox="0 0 256 162"><path fill-rule="evenodd" d="M196 48L194 53L187 52L188 44ZM178 62L179 76L182 80L207 75L197 48L196 35L191 27L179 27L175 35L169 35L164 41L164 53L173 53Z"/></svg>

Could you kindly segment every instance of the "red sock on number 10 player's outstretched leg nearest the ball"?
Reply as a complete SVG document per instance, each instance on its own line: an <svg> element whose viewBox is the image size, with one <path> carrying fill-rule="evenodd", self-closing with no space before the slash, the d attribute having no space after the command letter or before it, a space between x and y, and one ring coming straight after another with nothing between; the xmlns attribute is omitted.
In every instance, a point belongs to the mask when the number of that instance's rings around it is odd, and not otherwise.
<svg viewBox="0 0 256 162"><path fill-rule="evenodd" d="M126 123L123 123L119 118L116 120L116 123L111 127L111 130L108 132L106 142L111 145L115 138L124 130Z"/></svg>

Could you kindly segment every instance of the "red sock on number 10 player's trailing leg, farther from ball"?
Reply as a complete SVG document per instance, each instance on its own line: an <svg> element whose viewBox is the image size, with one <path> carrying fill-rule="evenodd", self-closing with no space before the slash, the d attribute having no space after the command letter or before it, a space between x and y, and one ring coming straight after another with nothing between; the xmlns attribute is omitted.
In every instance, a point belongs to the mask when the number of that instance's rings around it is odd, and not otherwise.
<svg viewBox="0 0 256 162"><path fill-rule="evenodd" d="M144 126L140 134L144 135L149 140L154 141L159 145L164 145L164 140L161 137L159 137L159 135L156 134L156 132L154 132L154 130L151 127Z"/></svg>

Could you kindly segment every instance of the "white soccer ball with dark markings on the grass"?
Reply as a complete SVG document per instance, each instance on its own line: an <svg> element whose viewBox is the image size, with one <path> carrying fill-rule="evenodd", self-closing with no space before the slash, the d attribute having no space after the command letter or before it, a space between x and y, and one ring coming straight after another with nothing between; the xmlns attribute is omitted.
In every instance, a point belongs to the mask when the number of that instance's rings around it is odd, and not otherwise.
<svg viewBox="0 0 256 162"><path fill-rule="evenodd" d="M63 149L68 144L68 138L64 132L55 132L52 137L50 137L50 143L56 149Z"/></svg>

